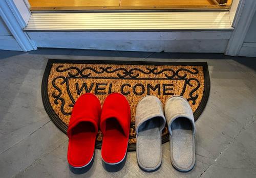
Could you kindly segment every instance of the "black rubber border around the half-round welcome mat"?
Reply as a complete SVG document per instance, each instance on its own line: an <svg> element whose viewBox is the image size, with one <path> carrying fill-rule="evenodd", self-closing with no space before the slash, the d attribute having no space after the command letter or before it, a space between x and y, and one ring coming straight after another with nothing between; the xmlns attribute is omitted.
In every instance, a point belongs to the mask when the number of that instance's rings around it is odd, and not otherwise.
<svg viewBox="0 0 256 178"><path fill-rule="evenodd" d="M74 64L127 64L127 65L183 65L183 66L203 66L204 72L204 91L201 103L199 107L194 112L195 121L202 114L210 93L210 77L208 71L207 62L147 62L147 61L105 61L105 60L60 60L60 59L49 59L44 75L42 77L41 84L41 96L42 103L44 104L45 110L51 120L55 123L55 125L65 134L67 134L68 126L59 119L57 114L54 112L50 105L49 97L48 97L48 77L50 74L50 70L52 68L53 63L74 63ZM169 135L164 135L162 137L162 144L169 141ZM96 141L96 148L101 148L102 142ZM128 151L135 151L136 143L129 144Z"/></svg>

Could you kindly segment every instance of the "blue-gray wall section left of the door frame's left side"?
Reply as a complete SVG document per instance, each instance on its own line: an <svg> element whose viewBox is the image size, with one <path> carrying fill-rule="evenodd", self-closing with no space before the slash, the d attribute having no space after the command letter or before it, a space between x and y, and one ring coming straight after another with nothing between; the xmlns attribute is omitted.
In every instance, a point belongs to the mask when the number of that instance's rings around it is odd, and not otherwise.
<svg viewBox="0 0 256 178"><path fill-rule="evenodd" d="M22 50L6 27L2 17L0 17L0 49Z"/></svg>

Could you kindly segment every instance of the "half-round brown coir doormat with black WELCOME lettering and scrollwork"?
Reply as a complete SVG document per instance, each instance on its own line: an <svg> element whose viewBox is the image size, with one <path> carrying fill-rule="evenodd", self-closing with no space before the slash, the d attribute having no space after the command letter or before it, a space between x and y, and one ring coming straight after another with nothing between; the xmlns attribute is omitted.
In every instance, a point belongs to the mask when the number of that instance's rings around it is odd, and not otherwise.
<svg viewBox="0 0 256 178"><path fill-rule="evenodd" d="M45 109L58 126L67 133L76 99L83 93L94 93L101 104L112 92L126 96L131 106L129 150L136 150L135 111L140 98L153 94L165 100L172 95L185 97L195 120L208 99L210 80L206 62L130 62L82 61L49 59L42 79L42 100ZM169 140L167 128L162 143ZM99 131L96 147L101 148Z"/></svg>

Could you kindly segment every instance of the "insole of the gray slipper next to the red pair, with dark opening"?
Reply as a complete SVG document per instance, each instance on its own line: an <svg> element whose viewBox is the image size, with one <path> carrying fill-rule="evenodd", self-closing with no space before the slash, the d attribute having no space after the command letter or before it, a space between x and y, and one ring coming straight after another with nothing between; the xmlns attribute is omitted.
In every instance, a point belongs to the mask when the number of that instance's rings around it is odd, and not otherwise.
<svg viewBox="0 0 256 178"><path fill-rule="evenodd" d="M137 157L144 169L156 169L161 163L161 118L154 117L145 121L137 133Z"/></svg>

